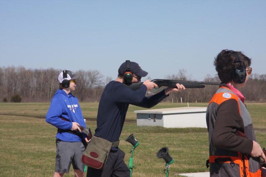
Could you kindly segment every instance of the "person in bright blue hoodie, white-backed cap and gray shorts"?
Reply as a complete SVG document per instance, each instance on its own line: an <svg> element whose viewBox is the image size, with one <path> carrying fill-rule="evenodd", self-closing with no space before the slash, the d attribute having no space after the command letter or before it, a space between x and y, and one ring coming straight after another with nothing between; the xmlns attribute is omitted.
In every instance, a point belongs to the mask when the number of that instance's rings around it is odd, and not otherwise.
<svg viewBox="0 0 266 177"><path fill-rule="evenodd" d="M85 147L82 140L89 142L80 127L86 127L80 104L71 92L76 89L78 75L64 70L59 76L59 89L54 94L46 114L46 122L57 130L56 134L56 167L54 177L69 173L72 164L75 176L84 176L84 164L81 162Z"/></svg>

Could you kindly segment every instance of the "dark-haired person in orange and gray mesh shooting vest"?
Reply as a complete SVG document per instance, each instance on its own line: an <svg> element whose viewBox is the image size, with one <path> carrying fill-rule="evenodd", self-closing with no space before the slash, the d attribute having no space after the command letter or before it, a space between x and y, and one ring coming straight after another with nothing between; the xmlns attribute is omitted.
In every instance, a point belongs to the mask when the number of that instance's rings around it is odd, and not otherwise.
<svg viewBox="0 0 266 177"><path fill-rule="evenodd" d="M210 145L206 165L210 163L210 177L265 176L260 158L265 161L266 157L257 143L245 97L239 91L252 72L250 64L250 58L233 50L222 50L214 60L222 83L206 111Z"/></svg>

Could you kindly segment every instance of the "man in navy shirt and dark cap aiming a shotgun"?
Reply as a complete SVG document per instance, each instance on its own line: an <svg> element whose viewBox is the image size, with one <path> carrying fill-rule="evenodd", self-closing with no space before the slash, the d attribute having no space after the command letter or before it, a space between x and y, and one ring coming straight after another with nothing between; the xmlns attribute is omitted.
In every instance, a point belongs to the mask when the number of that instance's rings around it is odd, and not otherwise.
<svg viewBox="0 0 266 177"><path fill-rule="evenodd" d="M169 93L185 90L183 85L177 83L175 88L168 87L158 94L146 97L146 92L157 87L157 84L146 80L136 90L129 89L124 85L124 83L138 83L147 74L137 63L127 60L119 67L116 80L106 85L98 107L95 135L85 152L90 149L91 151L87 153L86 158L82 159L82 162L87 160L87 163L91 164L91 167L88 167L87 170L87 177L129 177L130 171L124 162L125 153L118 147L129 104L151 108L166 98ZM98 156L103 154L98 153L100 150L95 149L95 147L100 146L100 143L97 142L105 143L106 146L109 145L109 148L107 148L109 155L106 154L102 158L107 158L107 161L97 160ZM103 148L105 147L102 146L99 149ZM101 166L96 167L96 163L105 165L103 168Z"/></svg>

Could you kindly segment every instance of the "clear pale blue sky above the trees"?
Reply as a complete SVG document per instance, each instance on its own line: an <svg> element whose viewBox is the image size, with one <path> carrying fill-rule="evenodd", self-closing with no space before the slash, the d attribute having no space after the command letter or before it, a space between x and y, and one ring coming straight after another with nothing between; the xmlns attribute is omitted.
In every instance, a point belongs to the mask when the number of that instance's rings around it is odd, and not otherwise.
<svg viewBox="0 0 266 177"><path fill-rule="evenodd" d="M186 69L201 81L230 49L266 74L265 9L263 0L0 0L0 66L95 69L115 79L131 60L152 79Z"/></svg>

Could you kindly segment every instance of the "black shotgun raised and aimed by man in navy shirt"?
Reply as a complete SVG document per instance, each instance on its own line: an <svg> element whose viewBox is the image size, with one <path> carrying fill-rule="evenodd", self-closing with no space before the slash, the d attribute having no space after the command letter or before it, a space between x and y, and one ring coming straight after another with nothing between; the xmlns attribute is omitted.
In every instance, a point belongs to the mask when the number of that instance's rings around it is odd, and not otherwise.
<svg viewBox="0 0 266 177"><path fill-rule="evenodd" d="M202 82L202 81L178 81L178 80L168 80L168 79L153 79L151 82L154 82L158 85L155 89L159 89L162 86L176 88L176 84L183 84L186 88L204 88L205 85L220 85L218 82ZM129 83L124 85L132 90L137 90L140 88L143 82Z"/></svg>

